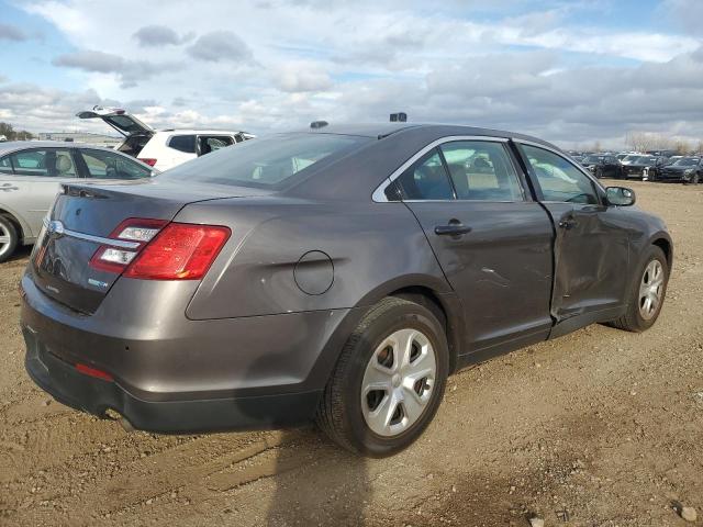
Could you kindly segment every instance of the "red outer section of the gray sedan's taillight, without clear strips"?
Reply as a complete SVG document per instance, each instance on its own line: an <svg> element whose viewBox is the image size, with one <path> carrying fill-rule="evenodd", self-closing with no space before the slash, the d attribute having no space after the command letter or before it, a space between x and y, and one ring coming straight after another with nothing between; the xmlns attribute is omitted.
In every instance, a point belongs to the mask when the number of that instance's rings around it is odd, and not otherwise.
<svg viewBox="0 0 703 527"><path fill-rule="evenodd" d="M202 278L230 238L227 227L169 223L124 271L144 280Z"/></svg>

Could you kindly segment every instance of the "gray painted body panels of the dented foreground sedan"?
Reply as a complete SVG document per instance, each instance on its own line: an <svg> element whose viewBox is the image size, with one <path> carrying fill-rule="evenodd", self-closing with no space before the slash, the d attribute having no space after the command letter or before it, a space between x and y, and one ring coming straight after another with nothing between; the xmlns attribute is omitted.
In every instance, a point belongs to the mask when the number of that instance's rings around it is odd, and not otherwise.
<svg viewBox="0 0 703 527"><path fill-rule="evenodd" d="M82 298L91 294L86 279L94 278L85 262L97 246L54 244L51 250L64 251L72 267L51 277L29 266L23 324L52 352L104 368L147 401L319 392L368 306L388 294L438 302L453 365L461 367L618 316L643 250L671 243L663 223L636 208L539 203L511 142L522 202L371 198L442 137L517 137L559 152L538 139L440 125L336 132L381 138L279 192L191 188L167 177L71 187L75 195L62 197L52 218L77 231L104 236L136 216L227 225L232 236L201 282L113 277L92 303ZM582 232L559 229L569 214L582 216ZM453 218L471 233L434 234ZM56 302L45 291L49 283L71 294L54 294Z"/></svg>

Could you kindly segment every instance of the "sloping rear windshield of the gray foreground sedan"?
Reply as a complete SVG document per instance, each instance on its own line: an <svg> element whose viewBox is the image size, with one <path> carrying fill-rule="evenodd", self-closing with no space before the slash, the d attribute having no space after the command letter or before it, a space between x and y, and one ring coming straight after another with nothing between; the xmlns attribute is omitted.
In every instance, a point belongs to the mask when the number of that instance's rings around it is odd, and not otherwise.
<svg viewBox="0 0 703 527"><path fill-rule="evenodd" d="M163 172L160 179L281 189L371 139L353 135L281 134L222 148Z"/></svg>

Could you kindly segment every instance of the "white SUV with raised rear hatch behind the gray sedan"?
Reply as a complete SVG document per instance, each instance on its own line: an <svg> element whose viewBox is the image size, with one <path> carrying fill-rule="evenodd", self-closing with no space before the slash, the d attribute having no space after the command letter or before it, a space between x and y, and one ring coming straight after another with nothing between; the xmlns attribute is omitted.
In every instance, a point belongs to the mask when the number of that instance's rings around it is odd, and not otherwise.
<svg viewBox="0 0 703 527"><path fill-rule="evenodd" d="M241 131L175 128L156 131L118 108L94 106L76 115L80 119L102 119L124 135L124 141L118 146L118 150L134 156L161 171L219 148L256 137Z"/></svg>

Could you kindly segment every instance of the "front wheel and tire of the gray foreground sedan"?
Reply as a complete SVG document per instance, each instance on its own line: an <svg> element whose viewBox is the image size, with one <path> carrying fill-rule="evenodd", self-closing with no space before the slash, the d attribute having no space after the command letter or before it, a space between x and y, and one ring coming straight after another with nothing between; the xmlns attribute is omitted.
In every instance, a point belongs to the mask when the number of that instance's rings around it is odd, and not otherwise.
<svg viewBox="0 0 703 527"><path fill-rule="evenodd" d="M660 270L661 281L658 287L658 292L654 293L655 282L658 281L657 269ZM610 326L626 332L640 333L649 329L661 313L661 306L667 294L667 284L669 282L669 265L667 257L659 247L650 246L643 259L643 264L637 269L629 292L628 292L628 305L627 311L623 316L609 323ZM650 284L648 287L648 284ZM651 293L651 294L648 294ZM649 309L647 299L652 302L652 298L658 300L654 309ZM644 305L643 305L644 304Z"/></svg>

